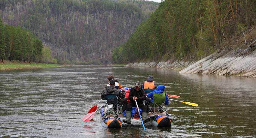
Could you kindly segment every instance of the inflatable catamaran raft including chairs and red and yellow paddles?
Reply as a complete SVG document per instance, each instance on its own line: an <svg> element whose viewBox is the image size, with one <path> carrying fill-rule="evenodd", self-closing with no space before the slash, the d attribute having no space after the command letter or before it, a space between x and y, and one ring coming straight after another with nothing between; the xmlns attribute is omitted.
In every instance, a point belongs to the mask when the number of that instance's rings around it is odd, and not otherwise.
<svg viewBox="0 0 256 138"><path fill-rule="evenodd" d="M165 94L165 93L164 93ZM113 95L115 96L115 95ZM154 93L155 96L155 93ZM168 95L169 97L173 97L173 98L179 98L180 96L177 95ZM117 98L117 96L116 96ZM147 117L151 118L151 124L155 127L166 127L166 128L171 128L172 125L172 121L169 117L169 114L167 113L167 106L165 106L166 110L164 110L163 106L165 103L165 98L163 98L163 102L160 103L156 103L155 101L153 103L148 103L145 102L145 104L147 104L149 106L149 113ZM172 101L177 101L177 100L173 100L173 99L169 99ZM100 103L101 101L99 101ZM188 104L191 106L195 106L198 107L198 104L195 103L190 103L190 102L184 102L184 101L178 101L184 104ZM98 103L98 104L99 104ZM104 104L97 109L97 105L96 104L94 107L92 107L89 110L89 114L87 114L84 118L83 118L83 122L89 122L95 112L97 112L98 110L100 110L100 120L101 120L101 124L102 126L106 127L106 128L121 128L122 127L122 120L121 119L125 119L126 118L126 111L122 112L122 107L123 105L119 105L118 103L116 104L111 104L108 105L106 98L104 101ZM132 116L131 118L133 119L139 119L139 113L141 113L141 109L140 112L136 112L137 107L133 107L132 108ZM143 123L142 123L143 125ZM144 125L143 125L144 127Z"/></svg>

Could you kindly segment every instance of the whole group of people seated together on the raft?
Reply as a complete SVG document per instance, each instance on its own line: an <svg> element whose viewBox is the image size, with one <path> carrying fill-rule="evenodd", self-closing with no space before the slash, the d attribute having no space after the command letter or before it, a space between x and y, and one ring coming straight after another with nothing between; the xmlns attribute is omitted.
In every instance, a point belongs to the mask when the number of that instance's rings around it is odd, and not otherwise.
<svg viewBox="0 0 256 138"><path fill-rule="evenodd" d="M116 99L107 99L108 104L123 104L122 110L126 110L126 119L123 119L124 123L131 124L131 110L132 107L136 107L135 100L137 101L138 107L142 109L142 121L146 123L150 121L148 116L148 107L143 104L143 101L153 102L153 93L162 94L164 92L164 85L157 85L154 82L153 76L148 76L148 79L141 85L139 81L135 82L134 87L130 88L129 95L126 94L125 88L120 85L120 83L114 79L114 76L108 76L108 85L104 88L101 93L101 99L105 99L106 95L114 94L117 95L118 101ZM126 96L127 95L127 96ZM165 94L166 102L168 105L168 97ZM129 103L127 101L130 101ZM128 104L127 104L128 103Z"/></svg>

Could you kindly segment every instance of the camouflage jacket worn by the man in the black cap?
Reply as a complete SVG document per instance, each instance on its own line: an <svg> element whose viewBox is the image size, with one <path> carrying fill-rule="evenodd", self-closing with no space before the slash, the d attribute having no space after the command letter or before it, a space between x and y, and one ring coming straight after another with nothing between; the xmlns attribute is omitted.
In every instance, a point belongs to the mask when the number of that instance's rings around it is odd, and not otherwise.
<svg viewBox="0 0 256 138"><path fill-rule="evenodd" d="M119 98L123 99L125 97L125 91L124 90L120 91L119 89L117 89L115 87L107 86L101 92L101 99L104 100L105 95L111 95L111 94L117 95L118 99ZM116 99L108 99L107 102L108 102L108 104L114 104L114 103L117 102L117 100Z"/></svg>

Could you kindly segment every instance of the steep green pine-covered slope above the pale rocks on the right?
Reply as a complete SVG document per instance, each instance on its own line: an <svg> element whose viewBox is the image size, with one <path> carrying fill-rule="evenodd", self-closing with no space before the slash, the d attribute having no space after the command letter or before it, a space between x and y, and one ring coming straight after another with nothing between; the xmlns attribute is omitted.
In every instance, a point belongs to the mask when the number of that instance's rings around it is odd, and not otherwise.
<svg viewBox="0 0 256 138"><path fill-rule="evenodd" d="M255 0L165 0L114 49L112 61L199 60L255 24Z"/></svg>

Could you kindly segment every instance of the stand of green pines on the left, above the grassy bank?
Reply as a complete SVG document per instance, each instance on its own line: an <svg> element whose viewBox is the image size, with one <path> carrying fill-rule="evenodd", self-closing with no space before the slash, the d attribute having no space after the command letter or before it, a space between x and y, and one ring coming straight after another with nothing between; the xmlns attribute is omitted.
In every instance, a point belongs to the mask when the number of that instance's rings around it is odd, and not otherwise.
<svg viewBox="0 0 256 138"><path fill-rule="evenodd" d="M20 27L4 26L0 18L0 59L40 62L42 41Z"/></svg>

